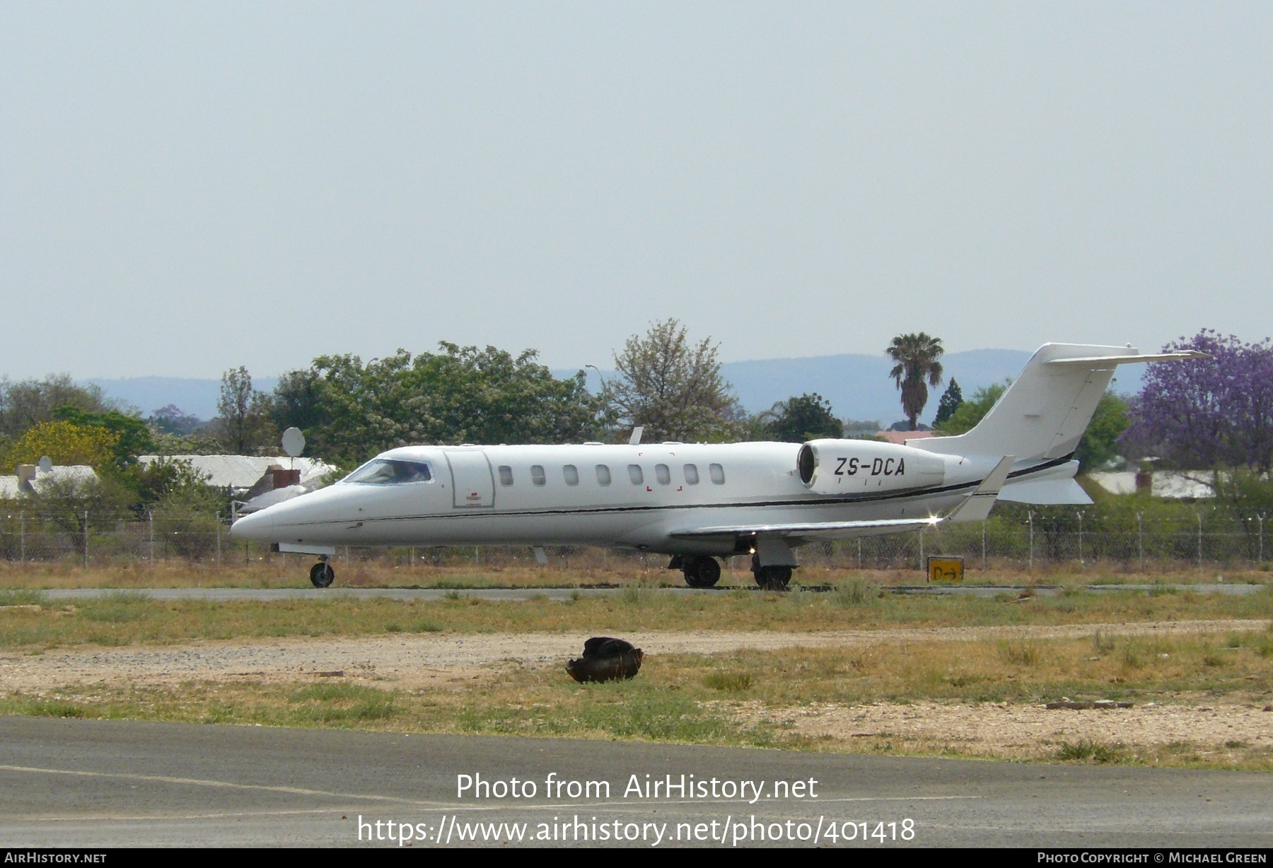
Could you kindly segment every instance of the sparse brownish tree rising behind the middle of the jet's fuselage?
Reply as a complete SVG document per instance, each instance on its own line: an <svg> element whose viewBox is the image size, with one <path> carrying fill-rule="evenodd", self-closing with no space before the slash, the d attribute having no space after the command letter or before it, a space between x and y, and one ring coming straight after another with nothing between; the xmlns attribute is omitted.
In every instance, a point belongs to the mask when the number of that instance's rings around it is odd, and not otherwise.
<svg viewBox="0 0 1273 868"><path fill-rule="evenodd" d="M712 440L732 433L735 397L721 377L719 345L690 344L676 319L652 323L615 354L619 375L602 383L606 419L644 426L647 440Z"/></svg>

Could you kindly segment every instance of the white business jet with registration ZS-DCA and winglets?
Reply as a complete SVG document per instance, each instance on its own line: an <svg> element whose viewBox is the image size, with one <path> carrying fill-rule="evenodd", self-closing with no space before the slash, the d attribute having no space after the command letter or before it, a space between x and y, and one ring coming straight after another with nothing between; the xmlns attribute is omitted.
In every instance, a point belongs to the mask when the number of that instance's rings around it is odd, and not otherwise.
<svg viewBox="0 0 1273 868"><path fill-rule="evenodd" d="M336 485L239 518L230 533L320 557L336 546L589 545L661 552L695 588L717 557L751 554L763 588L791 580L798 546L983 521L995 499L1087 504L1074 449L1116 365L1204 358L1045 344L981 423L959 437L798 443L419 445Z"/></svg>

